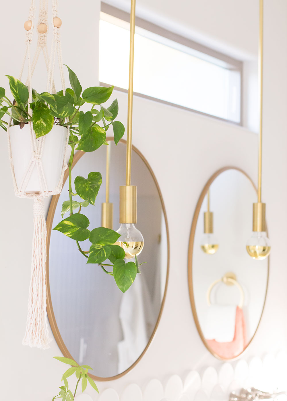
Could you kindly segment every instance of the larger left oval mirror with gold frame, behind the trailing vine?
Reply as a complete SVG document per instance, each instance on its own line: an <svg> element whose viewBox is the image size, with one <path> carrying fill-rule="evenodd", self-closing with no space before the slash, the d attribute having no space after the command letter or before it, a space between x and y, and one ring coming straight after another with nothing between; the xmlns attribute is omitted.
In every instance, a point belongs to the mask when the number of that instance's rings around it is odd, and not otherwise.
<svg viewBox="0 0 287 401"><path fill-rule="evenodd" d="M126 142L110 148L109 202L113 203L113 229L119 228L119 186L125 182ZM77 152L73 175L102 174L95 206L85 209L91 227L101 226L105 203L106 147L94 153ZM68 358L93 368L94 380L114 380L142 358L158 327L168 283L169 236L166 211L150 165L133 146L133 177L137 185L137 227L145 243L138 256L141 275L123 294L112 276L98 265L86 264L74 241L52 230L68 199L68 174L61 194L52 198L47 217L47 313L57 344ZM78 200L74 197L74 200ZM61 234L61 235L59 235ZM85 241L82 242L85 248ZM86 245L87 246L87 245ZM133 260L133 259L129 259Z"/></svg>

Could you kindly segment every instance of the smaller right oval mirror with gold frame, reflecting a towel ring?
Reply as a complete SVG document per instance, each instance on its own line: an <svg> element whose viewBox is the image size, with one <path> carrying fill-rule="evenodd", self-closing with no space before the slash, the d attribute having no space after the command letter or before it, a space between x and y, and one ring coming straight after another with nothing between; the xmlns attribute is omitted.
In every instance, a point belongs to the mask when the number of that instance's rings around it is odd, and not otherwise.
<svg viewBox="0 0 287 401"><path fill-rule="evenodd" d="M256 187L236 167L215 172L203 188L191 226L188 279L191 308L205 347L233 360L258 329L269 278L269 258L252 259L246 241Z"/></svg>

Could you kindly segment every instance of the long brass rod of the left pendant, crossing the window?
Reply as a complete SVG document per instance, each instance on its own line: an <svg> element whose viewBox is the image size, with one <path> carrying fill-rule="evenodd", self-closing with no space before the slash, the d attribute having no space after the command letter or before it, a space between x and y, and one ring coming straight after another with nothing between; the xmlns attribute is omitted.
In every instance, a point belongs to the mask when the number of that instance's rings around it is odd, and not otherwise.
<svg viewBox="0 0 287 401"><path fill-rule="evenodd" d="M127 107L127 162L125 184L131 185L131 129L133 122L133 58L135 48L135 0L131 0L130 20L130 44L129 44L129 91Z"/></svg>

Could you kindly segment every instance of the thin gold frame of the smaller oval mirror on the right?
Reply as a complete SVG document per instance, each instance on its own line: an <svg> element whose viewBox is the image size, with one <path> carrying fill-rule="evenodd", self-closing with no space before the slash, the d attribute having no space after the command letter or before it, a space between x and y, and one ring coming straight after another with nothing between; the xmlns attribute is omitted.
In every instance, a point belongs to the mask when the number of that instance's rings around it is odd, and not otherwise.
<svg viewBox="0 0 287 401"><path fill-rule="evenodd" d="M250 343L252 342L252 340L253 340L253 338L254 338L254 336L255 336L257 330L258 330L259 324L260 324L261 319L262 319L262 315L263 315L265 303L266 303L266 296L267 296L267 290L268 290L268 284L269 284L269 264L270 264L270 256L269 256L269 257L268 257L268 266L267 266L267 283L266 283L265 298L264 298L264 302L263 302L263 306L262 306L262 312L261 312L261 315L260 315L260 318L259 318L259 321L258 321L258 325L257 325L257 327L256 327L256 330L255 330L253 336L251 337L250 341L248 342L248 344L246 345L246 347L244 348L244 350L243 350L242 352L240 352L240 354L238 354L237 356L235 356L234 358L231 358L231 359L229 359L229 358L222 358L221 356L219 356L218 354L216 354L216 353L208 346L207 342L205 341L203 332L202 332L202 330L201 330L201 326L200 326L200 324L199 324L199 319L198 319L198 317L197 317L197 311L196 311L196 307L195 307L195 299L194 299L194 294L193 294L193 277L192 277L192 273L193 273L193 243L194 243L195 229L196 229L196 226L197 226L197 221L198 221L198 217L199 217L199 212L200 212L200 209L201 209L201 205L202 205L202 203L203 203L203 200L204 200L204 198L205 198L205 196L206 196L206 194L207 194L207 191L208 191L209 187L211 186L211 184L213 183L213 181L215 180L215 178L217 178L217 177L219 176L219 174L221 174L221 173L223 173L224 171L227 171L227 170L237 170L237 171L241 172L242 174L244 174L244 176L246 176L246 178L248 178L248 180L250 181L250 183L252 184L254 190L255 190L256 193L257 193L257 188L256 188L254 182L253 182L252 179L248 176L248 174L246 174L246 172L245 172L244 170L241 170L241 168L234 167L234 166L226 166L226 167L221 168L220 170L217 170L217 171L209 178L209 180L208 180L207 183L205 184L205 186L204 186L204 188L203 188L203 190L202 190L202 192L201 192L201 194L200 194L200 196L199 196L199 200L197 201L197 205L196 205L196 208L195 208L195 212L194 212L194 215L193 215L193 221L192 221L192 225L191 225L191 233L190 233L190 237L189 237L189 253L188 253L188 262L187 262L187 263L188 263L189 299L190 299L190 302L191 302L191 309L192 309L193 318L194 318L194 321L195 321L195 325L196 325L197 331L198 331L198 333L199 333L199 336L200 336L200 338L201 338L203 344L205 345L205 348L207 348L207 350L208 350L213 356L215 356L215 358L217 358L217 359L219 359L219 360L225 360L225 361L238 359L238 358L246 351L246 349L249 347ZM250 207L252 207L252 205L250 205ZM250 223L250 225L251 225L251 223ZM266 229L266 231L267 231L267 229ZM267 234L268 234L268 231L267 231Z"/></svg>

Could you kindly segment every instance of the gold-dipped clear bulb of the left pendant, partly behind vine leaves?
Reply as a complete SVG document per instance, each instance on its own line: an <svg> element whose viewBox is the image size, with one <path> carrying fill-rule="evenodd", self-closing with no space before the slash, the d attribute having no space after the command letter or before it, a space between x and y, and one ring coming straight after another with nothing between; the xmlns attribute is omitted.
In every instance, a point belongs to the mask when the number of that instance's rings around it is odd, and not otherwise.
<svg viewBox="0 0 287 401"><path fill-rule="evenodd" d="M141 232L135 228L132 223L122 223L117 233L121 237L115 245L119 245L125 251L125 259L131 259L135 255L139 255L143 250L143 236Z"/></svg>

